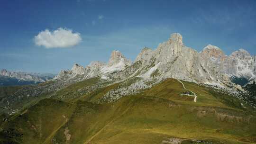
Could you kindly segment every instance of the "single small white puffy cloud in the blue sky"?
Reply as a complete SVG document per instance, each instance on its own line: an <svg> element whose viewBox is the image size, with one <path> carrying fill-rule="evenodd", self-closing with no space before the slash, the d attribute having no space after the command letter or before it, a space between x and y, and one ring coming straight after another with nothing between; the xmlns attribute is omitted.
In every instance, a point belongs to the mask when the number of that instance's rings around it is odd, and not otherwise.
<svg viewBox="0 0 256 144"><path fill-rule="evenodd" d="M72 30L62 27L52 32L46 29L35 36L35 44L46 48L70 47L77 45L81 40L79 33L73 33Z"/></svg>

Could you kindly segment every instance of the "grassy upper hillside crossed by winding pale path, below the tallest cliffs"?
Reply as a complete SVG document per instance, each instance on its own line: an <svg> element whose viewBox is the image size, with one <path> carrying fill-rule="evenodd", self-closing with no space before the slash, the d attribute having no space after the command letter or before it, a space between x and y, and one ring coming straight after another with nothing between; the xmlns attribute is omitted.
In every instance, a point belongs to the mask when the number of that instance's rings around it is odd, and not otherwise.
<svg viewBox="0 0 256 144"><path fill-rule="evenodd" d="M149 90L145 90L142 95L157 96L165 99L174 100L181 104L192 106L207 106L219 108L241 109L241 101L232 96L214 92L211 88L203 87L192 82L183 81L186 89L192 90L197 95L197 102L194 102L192 96L181 96L184 91L182 84L175 79L167 79L166 81L155 85Z"/></svg>

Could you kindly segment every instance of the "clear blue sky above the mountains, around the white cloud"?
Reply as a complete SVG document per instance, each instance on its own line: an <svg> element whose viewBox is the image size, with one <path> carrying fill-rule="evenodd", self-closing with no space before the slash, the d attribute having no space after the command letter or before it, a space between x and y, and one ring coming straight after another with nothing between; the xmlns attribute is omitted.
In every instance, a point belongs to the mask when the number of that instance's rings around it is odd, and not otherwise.
<svg viewBox="0 0 256 144"><path fill-rule="evenodd" d="M81 40L50 48L35 42L60 27ZM226 54L256 54L256 1L0 0L0 69L58 73L73 63L107 62L112 50L134 60L174 32L197 51L211 44Z"/></svg>

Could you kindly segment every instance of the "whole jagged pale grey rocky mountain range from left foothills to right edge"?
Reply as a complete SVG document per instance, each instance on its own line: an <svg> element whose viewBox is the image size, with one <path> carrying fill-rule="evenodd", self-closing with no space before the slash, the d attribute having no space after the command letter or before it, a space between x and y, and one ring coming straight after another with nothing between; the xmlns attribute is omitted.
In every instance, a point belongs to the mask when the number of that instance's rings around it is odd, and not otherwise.
<svg viewBox="0 0 256 144"><path fill-rule="evenodd" d="M119 51L113 51L108 64L93 62L83 68L74 64L68 71L62 71L55 79L70 79L82 75L84 79L101 76L102 79L144 79L176 78L184 81L209 84L222 88L243 85L256 80L256 56L239 49L230 55L217 46L207 45L201 52L183 44L183 37L174 33L157 46L155 50L145 47L131 63ZM236 79L245 79L239 83ZM235 85L236 87L236 85Z"/></svg>

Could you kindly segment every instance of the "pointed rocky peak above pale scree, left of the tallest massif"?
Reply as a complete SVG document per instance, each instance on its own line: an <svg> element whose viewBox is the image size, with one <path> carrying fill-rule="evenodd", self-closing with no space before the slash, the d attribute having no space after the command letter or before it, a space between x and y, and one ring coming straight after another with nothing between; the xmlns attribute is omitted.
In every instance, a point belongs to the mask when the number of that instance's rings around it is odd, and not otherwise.
<svg viewBox="0 0 256 144"><path fill-rule="evenodd" d="M123 54L121 54L119 51L112 51L111 55L110 55L110 60L108 63L108 66L112 66L118 63L125 63L127 65L131 64L131 61L129 61Z"/></svg>

